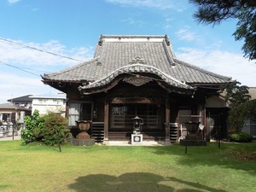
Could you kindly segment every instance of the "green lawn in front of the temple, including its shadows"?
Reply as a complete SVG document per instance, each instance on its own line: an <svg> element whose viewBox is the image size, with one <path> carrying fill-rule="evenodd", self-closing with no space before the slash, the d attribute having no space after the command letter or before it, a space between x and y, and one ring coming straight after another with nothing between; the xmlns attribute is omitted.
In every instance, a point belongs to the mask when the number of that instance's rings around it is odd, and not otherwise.
<svg viewBox="0 0 256 192"><path fill-rule="evenodd" d="M0 142L0 191L255 191L256 143L207 147ZM247 158L244 158L247 156ZM250 158L248 158L250 156Z"/></svg>

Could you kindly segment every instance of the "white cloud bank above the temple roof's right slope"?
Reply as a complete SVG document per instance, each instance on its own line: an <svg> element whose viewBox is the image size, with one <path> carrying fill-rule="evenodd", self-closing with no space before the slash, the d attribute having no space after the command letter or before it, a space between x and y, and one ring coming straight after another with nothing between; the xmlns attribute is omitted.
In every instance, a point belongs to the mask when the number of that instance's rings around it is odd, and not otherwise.
<svg viewBox="0 0 256 192"><path fill-rule="evenodd" d="M212 73L232 77L247 86L256 86L256 65L242 55L219 49L179 48L177 58Z"/></svg>

